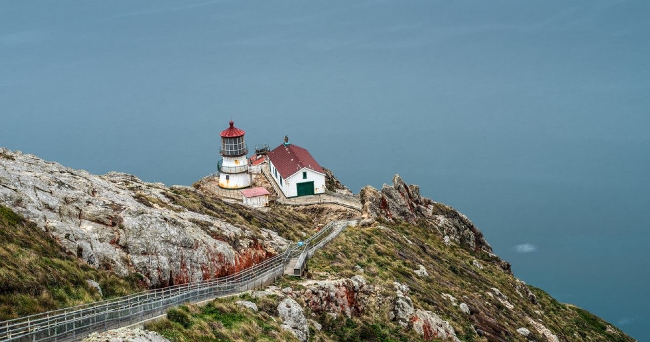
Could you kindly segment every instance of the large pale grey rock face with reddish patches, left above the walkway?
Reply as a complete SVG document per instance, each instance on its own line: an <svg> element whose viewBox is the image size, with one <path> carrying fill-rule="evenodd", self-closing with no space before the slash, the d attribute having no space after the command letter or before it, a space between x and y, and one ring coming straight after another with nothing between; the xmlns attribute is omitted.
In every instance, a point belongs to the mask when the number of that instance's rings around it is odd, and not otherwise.
<svg viewBox="0 0 650 342"><path fill-rule="evenodd" d="M175 190L135 176L95 176L0 148L0 204L47 231L93 267L152 287L215 278L276 254L287 241L255 236L170 199Z"/></svg>

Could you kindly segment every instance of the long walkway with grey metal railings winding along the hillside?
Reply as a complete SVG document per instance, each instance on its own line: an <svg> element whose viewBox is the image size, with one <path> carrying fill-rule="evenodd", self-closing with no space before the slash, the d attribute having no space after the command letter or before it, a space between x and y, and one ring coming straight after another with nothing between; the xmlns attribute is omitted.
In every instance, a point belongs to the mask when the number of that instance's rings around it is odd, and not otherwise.
<svg viewBox="0 0 650 342"><path fill-rule="evenodd" d="M288 259L300 256L305 250L311 256L346 226L357 222L359 220L330 222L305 240L309 248L289 244L281 254L229 276L142 291L0 322L0 341L70 341L93 331L119 328L156 317L183 302L249 291L274 282L283 274Z"/></svg>

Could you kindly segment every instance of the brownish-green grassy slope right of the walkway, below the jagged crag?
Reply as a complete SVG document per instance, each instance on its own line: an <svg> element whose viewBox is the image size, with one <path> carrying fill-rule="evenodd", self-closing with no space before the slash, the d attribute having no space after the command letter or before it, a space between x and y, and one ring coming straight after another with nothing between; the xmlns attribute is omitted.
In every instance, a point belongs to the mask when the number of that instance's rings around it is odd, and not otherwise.
<svg viewBox="0 0 650 342"><path fill-rule="evenodd" d="M473 256L463 248L448 246L431 230L401 224L344 231L310 260L310 267L315 272L347 277L354 275L355 265L360 265L367 280L385 291L392 289L394 280L405 283L411 288L414 306L434 311L449 321L463 341L482 340L472 326L506 341L525 341L515 332L517 328L525 327L537 335L537 340L543 341L526 317L541 319L560 340L564 337L565 341L633 341L599 317L557 302L541 289L517 282L500 267L480 257L480 254ZM473 265L474 259L483 269ZM424 265L428 278L413 272L418 265ZM534 293L538 304L528 299L523 286L528 286ZM508 309L487 295L495 294L492 287L506 295L514 308ZM465 302L472 314L461 313L450 300L441 296L444 293L454 296L457 303ZM390 332L395 324L385 321L388 309L370 308L365 317L354 321L358 326L365 326L367 321L380 322ZM354 339L358 330L361 328L337 326L331 332Z"/></svg>

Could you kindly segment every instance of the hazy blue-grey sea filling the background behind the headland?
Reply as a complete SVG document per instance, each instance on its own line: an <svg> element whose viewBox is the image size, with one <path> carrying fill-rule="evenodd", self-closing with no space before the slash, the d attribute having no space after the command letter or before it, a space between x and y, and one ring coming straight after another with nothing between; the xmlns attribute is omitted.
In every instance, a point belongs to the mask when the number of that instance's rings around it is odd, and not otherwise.
<svg viewBox="0 0 650 342"><path fill-rule="evenodd" d="M650 2L1 1L0 146L189 185L232 117L650 339Z"/></svg>

